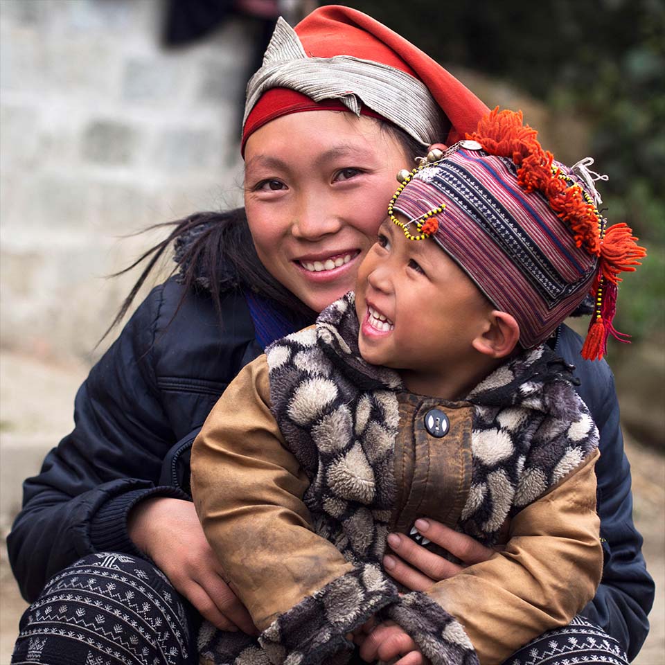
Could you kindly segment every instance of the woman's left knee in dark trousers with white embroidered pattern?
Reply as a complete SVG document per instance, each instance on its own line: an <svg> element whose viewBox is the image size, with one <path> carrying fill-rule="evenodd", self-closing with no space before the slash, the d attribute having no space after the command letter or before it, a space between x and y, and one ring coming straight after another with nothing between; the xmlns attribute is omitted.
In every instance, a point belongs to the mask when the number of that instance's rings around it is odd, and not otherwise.
<svg viewBox="0 0 665 665"><path fill-rule="evenodd" d="M153 565L123 554L91 554L55 575L19 628L12 665L196 662L175 589Z"/></svg>

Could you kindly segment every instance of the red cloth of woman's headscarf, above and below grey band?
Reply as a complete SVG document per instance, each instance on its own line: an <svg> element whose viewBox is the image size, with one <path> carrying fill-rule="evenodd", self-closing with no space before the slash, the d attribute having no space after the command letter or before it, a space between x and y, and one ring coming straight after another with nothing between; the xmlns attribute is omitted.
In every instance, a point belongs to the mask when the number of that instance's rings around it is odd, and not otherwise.
<svg viewBox="0 0 665 665"><path fill-rule="evenodd" d="M441 141L455 143L476 129L488 112L484 103L429 55L404 37L350 7L328 5L314 10L295 28L305 53L310 57L353 55L400 69L418 78L429 89L448 121L450 131ZM286 88L273 88L251 110L242 132L242 150L252 132L266 123L291 113L313 110L348 111L339 100L315 103L307 96ZM362 114L381 117L362 107Z"/></svg>

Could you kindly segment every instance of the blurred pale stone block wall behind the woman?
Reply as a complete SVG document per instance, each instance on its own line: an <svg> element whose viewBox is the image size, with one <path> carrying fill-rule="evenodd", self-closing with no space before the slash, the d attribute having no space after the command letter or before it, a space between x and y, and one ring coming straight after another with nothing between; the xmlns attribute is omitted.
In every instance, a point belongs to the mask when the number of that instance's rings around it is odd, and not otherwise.
<svg viewBox="0 0 665 665"><path fill-rule="evenodd" d="M0 2L1 343L90 358L148 224L240 202L252 26L159 45L159 0Z"/></svg>

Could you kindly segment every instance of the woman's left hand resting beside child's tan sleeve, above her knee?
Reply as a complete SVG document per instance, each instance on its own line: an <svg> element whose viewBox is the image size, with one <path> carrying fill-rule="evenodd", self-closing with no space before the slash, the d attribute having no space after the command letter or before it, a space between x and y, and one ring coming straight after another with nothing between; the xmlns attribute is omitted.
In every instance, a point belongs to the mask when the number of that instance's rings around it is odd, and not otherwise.
<svg viewBox="0 0 665 665"><path fill-rule="evenodd" d="M190 501L170 497L144 499L132 508L127 532L175 589L220 630L258 635L245 605L224 581Z"/></svg>

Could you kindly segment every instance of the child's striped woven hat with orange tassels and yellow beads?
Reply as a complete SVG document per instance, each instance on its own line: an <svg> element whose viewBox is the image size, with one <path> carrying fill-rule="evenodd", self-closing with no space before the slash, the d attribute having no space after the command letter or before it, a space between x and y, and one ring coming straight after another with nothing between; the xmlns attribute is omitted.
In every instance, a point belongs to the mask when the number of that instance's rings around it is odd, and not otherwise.
<svg viewBox="0 0 665 665"><path fill-rule="evenodd" d="M619 273L635 270L646 250L626 224L606 226L589 161L571 168L553 161L536 136L522 112L494 109L467 139L400 171L388 212L407 238L432 237L512 314L524 348L547 339L594 294L582 355L600 359L608 335L627 341L612 326Z"/></svg>

